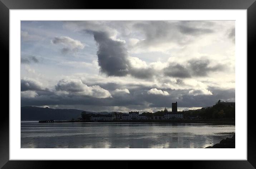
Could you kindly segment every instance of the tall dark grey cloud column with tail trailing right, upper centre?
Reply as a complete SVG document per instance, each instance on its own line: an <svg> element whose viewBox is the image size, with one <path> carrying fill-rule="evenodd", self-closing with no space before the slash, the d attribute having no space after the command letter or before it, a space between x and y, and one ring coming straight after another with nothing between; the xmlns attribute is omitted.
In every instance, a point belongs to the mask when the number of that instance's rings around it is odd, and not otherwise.
<svg viewBox="0 0 256 169"><path fill-rule="evenodd" d="M92 31L87 31L92 32ZM98 44L98 63L100 71L108 76L132 75L136 78L152 78L150 68L134 68L128 60L128 52L121 41L113 40L107 32L92 32Z"/></svg>

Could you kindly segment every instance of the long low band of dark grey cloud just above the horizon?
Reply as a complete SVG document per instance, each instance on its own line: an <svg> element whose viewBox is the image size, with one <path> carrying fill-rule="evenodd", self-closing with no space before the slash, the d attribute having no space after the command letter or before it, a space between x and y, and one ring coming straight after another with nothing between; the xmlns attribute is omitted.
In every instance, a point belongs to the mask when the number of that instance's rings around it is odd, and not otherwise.
<svg viewBox="0 0 256 169"><path fill-rule="evenodd" d="M109 84L110 85L110 84ZM118 84L117 84L118 85ZM119 86L120 87L120 86ZM80 95L58 95L54 92L37 92L37 97L21 98L22 106L44 106L44 105L84 105L91 106L97 111L102 106L140 107L142 109L154 107L171 107L172 102L178 102L178 107L207 107L215 104L218 99L234 101L235 89L209 88L212 95L198 94L189 95L190 89L161 89L171 93L168 96L148 94L151 87L138 86L131 88L127 86L129 93L113 95L108 98L95 98Z"/></svg>

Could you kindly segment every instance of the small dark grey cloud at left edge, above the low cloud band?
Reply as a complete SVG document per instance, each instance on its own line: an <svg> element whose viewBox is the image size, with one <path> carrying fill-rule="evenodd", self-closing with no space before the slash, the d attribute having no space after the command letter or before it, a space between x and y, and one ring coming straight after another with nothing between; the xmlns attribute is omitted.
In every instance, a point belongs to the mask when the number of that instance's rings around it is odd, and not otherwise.
<svg viewBox="0 0 256 169"><path fill-rule="evenodd" d="M39 82L37 82L35 80L21 79L20 89L21 89L21 91L27 91L27 90L41 91L41 90L43 90L43 87Z"/></svg>

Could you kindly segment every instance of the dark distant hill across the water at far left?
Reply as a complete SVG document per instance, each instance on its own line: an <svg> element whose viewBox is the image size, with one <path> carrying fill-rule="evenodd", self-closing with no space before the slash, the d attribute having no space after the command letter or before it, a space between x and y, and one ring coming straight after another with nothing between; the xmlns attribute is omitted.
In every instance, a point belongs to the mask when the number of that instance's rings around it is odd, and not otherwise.
<svg viewBox="0 0 256 169"><path fill-rule="evenodd" d="M24 106L21 107L21 121L37 120L71 120L81 117L83 110L77 109L52 109ZM86 111L87 112L87 111ZM87 112L93 114L109 114L109 112Z"/></svg>

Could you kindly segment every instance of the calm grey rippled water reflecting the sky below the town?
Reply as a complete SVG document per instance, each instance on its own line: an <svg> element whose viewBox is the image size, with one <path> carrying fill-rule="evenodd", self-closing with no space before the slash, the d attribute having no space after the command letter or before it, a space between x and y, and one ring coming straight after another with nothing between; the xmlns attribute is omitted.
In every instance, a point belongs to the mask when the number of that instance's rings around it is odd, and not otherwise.
<svg viewBox="0 0 256 169"><path fill-rule="evenodd" d="M21 148L205 148L234 125L205 123L21 122Z"/></svg>

